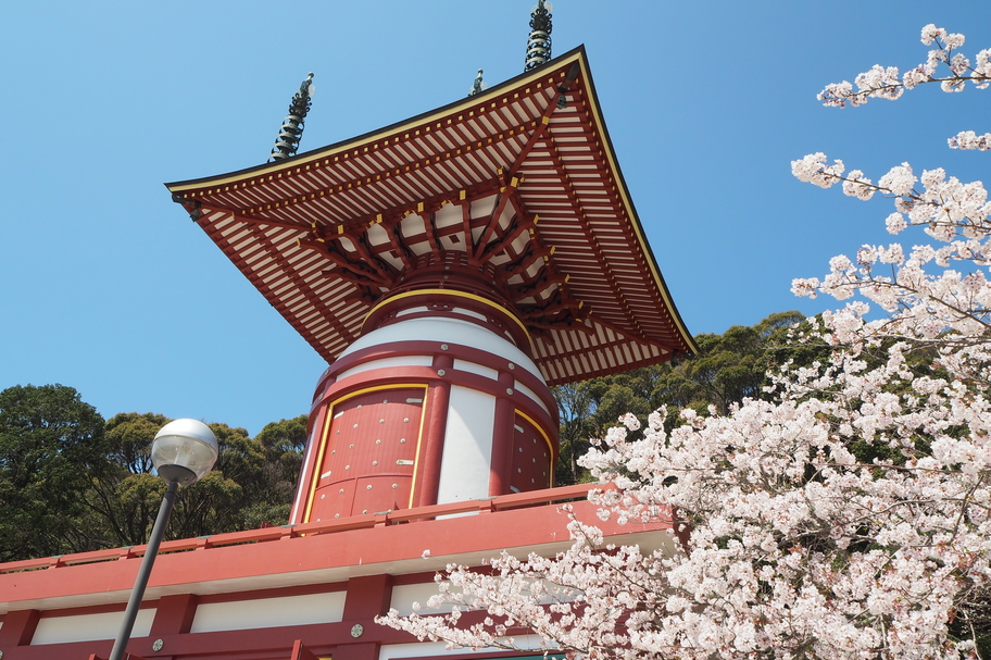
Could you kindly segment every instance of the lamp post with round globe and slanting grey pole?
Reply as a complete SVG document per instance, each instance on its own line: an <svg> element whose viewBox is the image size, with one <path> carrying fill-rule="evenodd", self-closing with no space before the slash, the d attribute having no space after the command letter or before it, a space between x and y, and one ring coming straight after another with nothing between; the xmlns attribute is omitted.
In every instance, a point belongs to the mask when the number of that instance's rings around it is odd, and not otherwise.
<svg viewBox="0 0 991 660"><path fill-rule="evenodd" d="M155 555L159 553L159 545L165 535L165 526L168 524L168 518L175 506L176 490L179 486L188 486L200 481L213 468L216 458L216 437L206 424L197 420L170 422L155 434L155 439L151 444L151 463L155 466L159 476L168 483L168 487L165 489L165 497L162 498L162 506L159 508L151 536L148 538L148 547L141 559L141 568L135 578L127 609L124 610L124 621L121 623L121 630L114 640L113 650L110 651L110 660L124 658L124 649L130 639L138 608L145 597L145 587L148 586L151 566L154 564Z"/></svg>

